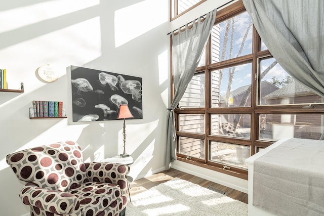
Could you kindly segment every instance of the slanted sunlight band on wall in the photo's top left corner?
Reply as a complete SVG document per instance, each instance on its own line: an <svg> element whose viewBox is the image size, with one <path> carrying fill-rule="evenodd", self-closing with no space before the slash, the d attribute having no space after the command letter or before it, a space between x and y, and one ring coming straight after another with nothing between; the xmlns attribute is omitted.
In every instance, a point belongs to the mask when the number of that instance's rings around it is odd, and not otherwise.
<svg viewBox="0 0 324 216"><path fill-rule="evenodd" d="M99 0L56 0L2 11L0 33L86 9L99 3Z"/></svg>

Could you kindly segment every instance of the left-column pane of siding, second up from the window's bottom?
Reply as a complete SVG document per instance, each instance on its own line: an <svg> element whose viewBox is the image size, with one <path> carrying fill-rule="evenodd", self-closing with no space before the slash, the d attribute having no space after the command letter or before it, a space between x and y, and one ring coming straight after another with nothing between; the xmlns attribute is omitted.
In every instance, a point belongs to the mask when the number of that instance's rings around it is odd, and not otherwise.
<svg viewBox="0 0 324 216"><path fill-rule="evenodd" d="M205 115L179 114L179 131L205 134Z"/></svg>

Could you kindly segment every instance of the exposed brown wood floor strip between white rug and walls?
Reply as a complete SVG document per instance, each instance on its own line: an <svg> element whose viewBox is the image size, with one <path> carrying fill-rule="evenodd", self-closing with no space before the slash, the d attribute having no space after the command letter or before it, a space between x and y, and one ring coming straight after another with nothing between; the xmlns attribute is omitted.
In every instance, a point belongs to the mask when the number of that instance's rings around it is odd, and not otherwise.
<svg viewBox="0 0 324 216"><path fill-rule="evenodd" d="M138 193L141 193L143 191L146 191L154 186L157 186L161 183L165 183L173 178L180 178L186 181L189 181L193 184L200 185L201 187L213 187L216 189L219 189L221 191L224 191L227 193L228 197L231 197L233 199L239 200L241 202L244 202L248 204L248 194L234 190L232 188L208 181L206 179L202 179L196 176L193 176L191 174L187 174L186 172L179 171L177 169L169 169L165 171L158 172L157 174L153 174L149 177L145 177L139 180L136 180L131 183L131 189L130 194L135 195Z"/></svg>

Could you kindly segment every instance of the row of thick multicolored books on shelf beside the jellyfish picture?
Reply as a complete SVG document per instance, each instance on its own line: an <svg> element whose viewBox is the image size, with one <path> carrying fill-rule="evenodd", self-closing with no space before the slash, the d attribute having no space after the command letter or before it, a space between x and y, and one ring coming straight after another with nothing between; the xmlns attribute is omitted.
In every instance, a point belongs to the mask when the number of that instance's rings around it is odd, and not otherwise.
<svg viewBox="0 0 324 216"><path fill-rule="evenodd" d="M62 101L32 101L34 117L63 117Z"/></svg>

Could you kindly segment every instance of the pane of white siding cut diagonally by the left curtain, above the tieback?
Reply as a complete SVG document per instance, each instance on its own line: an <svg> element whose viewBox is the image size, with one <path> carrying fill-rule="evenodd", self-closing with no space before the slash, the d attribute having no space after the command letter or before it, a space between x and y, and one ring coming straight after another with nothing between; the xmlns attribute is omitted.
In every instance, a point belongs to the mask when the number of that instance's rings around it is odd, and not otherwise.
<svg viewBox="0 0 324 216"><path fill-rule="evenodd" d="M179 106L181 108L205 107L205 73L195 74L192 77Z"/></svg>

